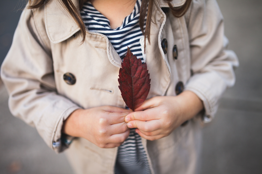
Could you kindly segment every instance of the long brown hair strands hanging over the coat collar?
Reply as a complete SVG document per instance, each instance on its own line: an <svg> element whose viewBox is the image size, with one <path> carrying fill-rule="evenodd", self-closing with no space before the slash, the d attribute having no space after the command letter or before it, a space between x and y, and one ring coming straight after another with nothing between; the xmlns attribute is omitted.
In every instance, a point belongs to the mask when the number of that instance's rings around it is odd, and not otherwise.
<svg viewBox="0 0 262 174"><path fill-rule="evenodd" d="M38 8L44 5L44 3L48 3L50 0L29 0L29 9ZM59 0L61 4L65 7L65 9L69 12L69 14L73 17L78 27L80 28L81 33L83 34L83 40L85 40L86 36L86 28L85 24L82 20L81 15L79 14L79 10L82 9L85 2L88 0L78 0L79 1L79 9L77 9L71 0ZM151 26L151 17L152 17L152 9L153 9L153 1L154 0L142 0L140 7L140 17L139 17L139 26L143 35L145 36L145 46L146 46L146 37L150 43L150 26ZM168 3L169 9L174 17L182 17L188 10L192 0L186 0L185 4L180 7L173 7L172 0L165 0ZM146 17L146 8L148 6L148 12ZM144 28L144 21L146 20L146 27Z"/></svg>

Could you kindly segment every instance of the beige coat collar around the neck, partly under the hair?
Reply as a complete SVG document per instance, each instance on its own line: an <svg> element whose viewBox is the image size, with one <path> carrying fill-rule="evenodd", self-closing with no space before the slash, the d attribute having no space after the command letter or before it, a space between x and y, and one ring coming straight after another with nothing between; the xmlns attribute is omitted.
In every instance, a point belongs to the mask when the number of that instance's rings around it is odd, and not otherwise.
<svg viewBox="0 0 262 174"><path fill-rule="evenodd" d="M173 0L173 7L179 7L186 0ZM76 7L78 0L72 0ZM155 0L159 7L168 7L164 0ZM47 36L52 43L60 43L67 40L74 33L80 30L74 19L68 14L63 5L56 0L51 0L44 7L44 19Z"/></svg>

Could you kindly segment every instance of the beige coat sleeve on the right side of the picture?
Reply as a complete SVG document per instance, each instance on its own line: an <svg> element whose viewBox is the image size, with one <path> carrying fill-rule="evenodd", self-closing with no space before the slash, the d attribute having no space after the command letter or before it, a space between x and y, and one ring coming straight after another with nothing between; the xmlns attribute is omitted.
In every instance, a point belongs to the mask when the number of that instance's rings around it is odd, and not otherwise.
<svg viewBox="0 0 262 174"><path fill-rule="evenodd" d="M222 93L235 83L234 68L239 63L236 54L227 49L223 16L215 0L193 0L185 18L194 74L185 89L203 101L203 119L210 122Z"/></svg>

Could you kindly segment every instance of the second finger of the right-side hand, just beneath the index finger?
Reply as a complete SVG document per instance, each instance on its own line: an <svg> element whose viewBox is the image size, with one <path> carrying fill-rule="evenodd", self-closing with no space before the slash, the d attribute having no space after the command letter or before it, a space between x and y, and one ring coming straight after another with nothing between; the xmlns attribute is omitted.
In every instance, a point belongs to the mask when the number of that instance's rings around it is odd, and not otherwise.
<svg viewBox="0 0 262 174"><path fill-rule="evenodd" d="M149 120L147 122L133 120L127 123L128 128L138 128L144 132L152 132L161 128L160 120Z"/></svg>

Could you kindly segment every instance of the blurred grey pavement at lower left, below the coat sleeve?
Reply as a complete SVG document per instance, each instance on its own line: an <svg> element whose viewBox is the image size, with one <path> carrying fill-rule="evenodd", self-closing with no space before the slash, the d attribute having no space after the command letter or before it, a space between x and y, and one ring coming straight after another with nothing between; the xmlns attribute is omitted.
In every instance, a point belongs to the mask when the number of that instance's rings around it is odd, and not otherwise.
<svg viewBox="0 0 262 174"><path fill-rule="evenodd" d="M51 150L35 128L11 115L0 86L0 174L72 174L64 154Z"/></svg>

